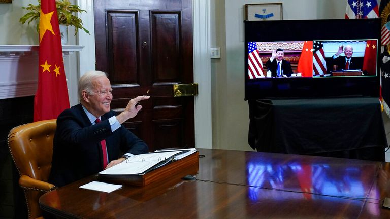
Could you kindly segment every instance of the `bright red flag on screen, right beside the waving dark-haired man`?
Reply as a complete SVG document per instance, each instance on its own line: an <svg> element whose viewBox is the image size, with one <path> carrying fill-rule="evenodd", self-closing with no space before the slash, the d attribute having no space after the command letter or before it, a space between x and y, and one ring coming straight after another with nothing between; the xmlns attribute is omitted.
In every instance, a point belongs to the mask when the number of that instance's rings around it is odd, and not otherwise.
<svg viewBox="0 0 390 219"><path fill-rule="evenodd" d="M303 44L297 72L302 73L302 77L313 76L313 41L305 41Z"/></svg>

